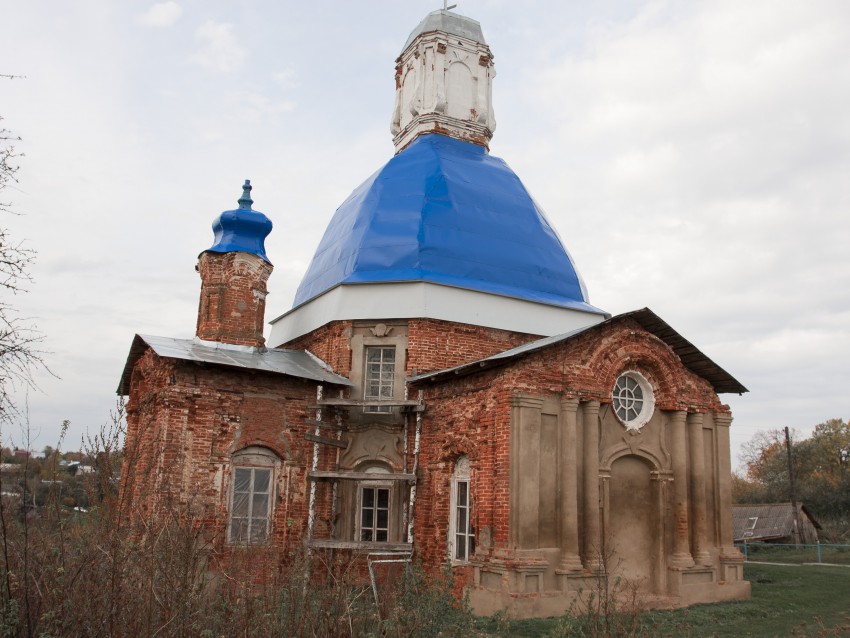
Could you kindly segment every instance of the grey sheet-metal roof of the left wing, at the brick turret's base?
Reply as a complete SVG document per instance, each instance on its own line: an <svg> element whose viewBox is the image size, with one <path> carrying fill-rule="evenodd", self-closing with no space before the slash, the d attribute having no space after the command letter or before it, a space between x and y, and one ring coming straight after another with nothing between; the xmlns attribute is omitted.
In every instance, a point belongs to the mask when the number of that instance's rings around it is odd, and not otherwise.
<svg viewBox="0 0 850 638"><path fill-rule="evenodd" d="M137 334L133 338L127 363L121 373L119 395L126 396L129 393L133 366L147 348L153 349L160 357L169 359L285 374L336 385L352 385L351 381L332 372L330 366L306 350L260 349L199 339L172 339Z"/></svg>

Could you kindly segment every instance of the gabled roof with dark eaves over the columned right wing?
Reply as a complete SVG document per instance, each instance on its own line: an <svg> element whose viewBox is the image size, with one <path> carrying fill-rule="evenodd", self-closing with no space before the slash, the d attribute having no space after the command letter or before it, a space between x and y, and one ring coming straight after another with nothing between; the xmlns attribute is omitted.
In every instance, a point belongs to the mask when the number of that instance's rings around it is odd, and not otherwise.
<svg viewBox="0 0 850 638"><path fill-rule="evenodd" d="M694 374L701 376L703 379L711 383L712 387L714 388L714 391L718 394L727 392L742 394L744 392L748 392L747 388L745 388L737 379L735 379L731 374L726 372L719 365L714 363L714 361L705 356L700 350L696 348L696 346L694 346L690 341L685 339L678 332L673 330L673 328L671 328L670 325L667 324L667 322L661 319L661 317L656 315L649 308L633 310L632 312L626 312L621 315L611 317L606 321L594 324L592 326L579 328L571 332L565 332L563 334L554 335L552 337L546 337L544 339L538 339L537 341L531 341L516 348L511 348L510 350L499 352L484 359L479 359L478 361L473 361L471 363L465 363L460 366L455 366L454 368L417 374L410 377L409 380L411 383L416 383L418 381L424 380L438 381L447 377L473 374L485 368L503 365L514 359L524 357L532 352L548 348L549 346L554 345L556 343L568 341L576 337L577 335L580 335L589 330L596 330L599 329L601 326L605 326L607 324L614 323L617 321L622 321L626 318L634 319L647 332L654 334L656 337L658 337L664 343L670 346L673 352L675 352L679 359L682 361L682 364Z"/></svg>

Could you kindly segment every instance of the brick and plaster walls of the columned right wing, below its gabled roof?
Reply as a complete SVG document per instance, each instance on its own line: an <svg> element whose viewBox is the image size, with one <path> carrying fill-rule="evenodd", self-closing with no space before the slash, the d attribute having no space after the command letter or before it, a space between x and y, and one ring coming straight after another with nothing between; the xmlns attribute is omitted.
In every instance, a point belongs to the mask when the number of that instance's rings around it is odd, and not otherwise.
<svg viewBox="0 0 850 638"><path fill-rule="evenodd" d="M611 410L625 370L657 388L637 432ZM563 613L602 569L659 606L749 595L731 536L728 407L639 326L606 324L424 396L432 517L419 551L445 557L445 490L454 459L468 455L479 538L459 569L480 613Z"/></svg>

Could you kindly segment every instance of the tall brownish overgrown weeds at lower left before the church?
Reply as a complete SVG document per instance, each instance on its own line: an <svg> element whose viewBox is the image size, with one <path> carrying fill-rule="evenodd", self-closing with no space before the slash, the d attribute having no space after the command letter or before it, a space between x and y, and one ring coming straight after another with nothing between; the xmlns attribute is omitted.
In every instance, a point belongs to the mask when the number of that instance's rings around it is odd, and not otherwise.
<svg viewBox="0 0 850 638"><path fill-rule="evenodd" d="M167 493L154 512L138 507L135 473L120 492L112 480L122 425L93 441L87 513L58 489L39 508L0 498L0 638L471 635L450 572L399 569L379 609L362 556L227 546Z"/></svg>

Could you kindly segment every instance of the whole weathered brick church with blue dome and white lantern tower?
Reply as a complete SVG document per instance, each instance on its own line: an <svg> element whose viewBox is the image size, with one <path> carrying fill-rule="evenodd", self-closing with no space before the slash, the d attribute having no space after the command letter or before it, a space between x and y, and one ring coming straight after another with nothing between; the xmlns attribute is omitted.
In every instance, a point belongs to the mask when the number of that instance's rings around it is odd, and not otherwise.
<svg viewBox="0 0 850 638"><path fill-rule="evenodd" d="M590 304L489 153L495 75L475 20L414 29L396 153L336 211L268 342L272 224L245 182L198 258L195 337L132 342L125 492L223 554L448 563L481 614L563 613L603 570L661 606L747 598L718 396L746 388L651 310Z"/></svg>

